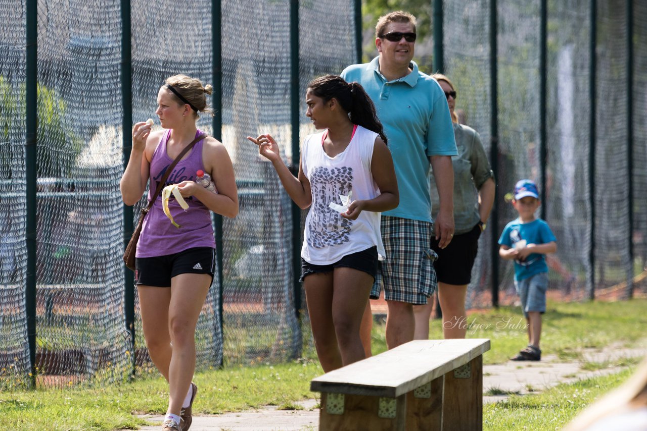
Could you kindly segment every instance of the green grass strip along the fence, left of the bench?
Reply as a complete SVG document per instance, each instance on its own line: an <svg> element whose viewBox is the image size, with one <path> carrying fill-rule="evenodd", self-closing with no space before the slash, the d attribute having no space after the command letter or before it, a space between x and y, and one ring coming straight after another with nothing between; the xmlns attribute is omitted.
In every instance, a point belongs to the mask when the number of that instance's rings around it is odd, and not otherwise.
<svg viewBox="0 0 647 431"><path fill-rule="evenodd" d="M196 373L198 414L239 412L265 405L301 409L295 401L314 397L309 382L323 372L314 361ZM96 389L3 392L0 417L11 430L114 430L146 425L136 413L164 414L168 386L161 378Z"/></svg>

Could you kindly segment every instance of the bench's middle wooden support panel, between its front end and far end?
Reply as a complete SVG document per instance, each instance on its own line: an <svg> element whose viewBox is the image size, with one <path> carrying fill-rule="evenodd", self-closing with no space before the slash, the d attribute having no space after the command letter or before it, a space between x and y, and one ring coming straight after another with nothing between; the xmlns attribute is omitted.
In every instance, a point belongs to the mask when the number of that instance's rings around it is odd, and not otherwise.
<svg viewBox="0 0 647 431"><path fill-rule="evenodd" d="M444 376L407 394L406 429L440 431L443 426Z"/></svg>

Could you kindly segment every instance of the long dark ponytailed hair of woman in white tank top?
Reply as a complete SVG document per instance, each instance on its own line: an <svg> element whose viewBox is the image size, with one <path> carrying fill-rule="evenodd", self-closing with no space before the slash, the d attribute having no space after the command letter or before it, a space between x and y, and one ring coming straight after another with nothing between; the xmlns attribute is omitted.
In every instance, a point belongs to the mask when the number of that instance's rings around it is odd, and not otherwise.
<svg viewBox="0 0 647 431"><path fill-rule="evenodd" d="M341 76L324 75L310 81L308 89L314 96L322 98L324 103L336 99L342 109L348 112L351 123L377 133L386 143L386 135L375 113L375 105L362 85L357 82L347 83Z"/></svg>

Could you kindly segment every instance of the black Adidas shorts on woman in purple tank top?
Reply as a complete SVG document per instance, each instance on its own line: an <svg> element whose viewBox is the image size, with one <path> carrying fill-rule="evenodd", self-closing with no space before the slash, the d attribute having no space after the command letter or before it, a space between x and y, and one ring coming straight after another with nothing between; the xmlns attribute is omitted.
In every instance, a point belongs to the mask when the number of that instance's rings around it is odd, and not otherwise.
<svg viewBox="0 0 647 431"><path fill-rule="evenodd" d="M138 257L135 259L135 285L170 288L171 279L180 274L208 274L212 281L215 272L215 249L194 247L173 255Z"/></svg>

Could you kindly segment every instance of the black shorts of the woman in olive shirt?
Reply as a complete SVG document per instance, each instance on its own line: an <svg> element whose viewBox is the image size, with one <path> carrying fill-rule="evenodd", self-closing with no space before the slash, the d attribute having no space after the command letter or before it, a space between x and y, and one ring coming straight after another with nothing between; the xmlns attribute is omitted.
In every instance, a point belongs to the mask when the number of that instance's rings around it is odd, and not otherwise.
<svg viewBox="0 0 647 431"><path fill-rule="evenodd" d="M479 250L479 237L481 227L478 224L467 233L454 235L452 242L444 249L438 247L438 241L432 237L432 249L438 255L433 269L439 282L455 286L470 284L472 267Z"/></svg>

